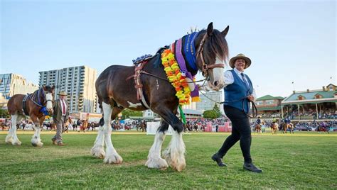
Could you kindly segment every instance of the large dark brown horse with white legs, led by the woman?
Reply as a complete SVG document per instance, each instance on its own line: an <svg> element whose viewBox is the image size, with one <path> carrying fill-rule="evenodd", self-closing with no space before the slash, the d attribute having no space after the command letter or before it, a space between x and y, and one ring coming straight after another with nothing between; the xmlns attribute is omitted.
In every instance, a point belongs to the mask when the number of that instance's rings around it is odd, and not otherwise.
<svg viewBox="0 0 337 190"><path fill-rule="evenodd" d="M181 38L183 44L191 42L187 45L190 54L186 55L184 51L181 52L181 59L186 62L187 72L194 76L198 71L201 71L206 77L210 89L215 91L223 89L225 85L223 67L225 67L225 60L228 59L228 44L225 40L228 30L229 26L223 31L213 30L213 23L210 23L206 30L200 30L198 33L185 35ZM196 38L192 38L192 35ZM178 41L173 42L175 44L178 43ZM144 101L146 101L151 111L154 111L162 118L145 165L149 168L157 169L164 169L170 165L173 169L181 171L186 167L185 144L182 137L183 123L176 116L178 113L176 90L167 80L166 72L161 62L161 53L167 49L173 50L173 47L176 47L175 50L178 51L186 50L185 48L178 49L177 45L162 47L144 65L139 80L142 84ZM192 47L195 50L191 50ZM190 56L191 59L186 56ZM119 156L112 145L111 119L116 118L124 108L133 111L149 109L146 108L144 102L141 103L137 99L134 80L129 79L134 76L134 70L134 66L112 65L107 67L96 81L98 102L104 115L100 121L100 130L98 130L91 153L95 157L105 157L105 163L122 163L122 157ZM161 158L161 145L169 125L173 128L173 134L169 147L164 151L164 160ZM104 145L107 146L106 152L103 149Z"/></svg>

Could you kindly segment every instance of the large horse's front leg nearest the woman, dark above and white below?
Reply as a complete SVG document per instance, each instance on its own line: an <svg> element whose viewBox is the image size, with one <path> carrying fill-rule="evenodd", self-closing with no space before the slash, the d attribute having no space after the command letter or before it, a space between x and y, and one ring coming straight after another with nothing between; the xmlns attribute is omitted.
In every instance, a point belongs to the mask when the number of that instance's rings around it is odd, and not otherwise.
<svg viewBox="0 0 337 190"><path fill-rule="evenodd" d="M163 152L166 162L178 172L186 167L185 162L185 144L183 143L183 123L168 108L156 106L153 108L161 118L172 126L172 138L167 149Z"/></svg>

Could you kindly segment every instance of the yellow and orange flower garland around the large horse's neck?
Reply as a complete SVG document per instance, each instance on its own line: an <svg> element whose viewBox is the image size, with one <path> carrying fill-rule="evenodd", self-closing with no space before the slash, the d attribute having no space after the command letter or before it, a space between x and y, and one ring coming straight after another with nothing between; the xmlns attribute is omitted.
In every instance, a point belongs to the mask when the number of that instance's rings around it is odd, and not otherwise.
<svg viewBox="0 0 337 190"><path fill-rule="evenodd" d="M176 96L181 106L190 104L191 90L186 82L186 77L180 72L178 62L170 49L161 53L161 63L164 65L166 76L176 89Z"/></svg>

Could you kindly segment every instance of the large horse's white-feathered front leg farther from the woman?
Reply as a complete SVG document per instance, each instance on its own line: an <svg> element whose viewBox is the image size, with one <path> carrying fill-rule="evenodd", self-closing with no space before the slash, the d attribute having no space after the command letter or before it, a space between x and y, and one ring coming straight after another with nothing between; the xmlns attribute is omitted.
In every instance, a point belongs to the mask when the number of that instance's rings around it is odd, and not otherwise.
<svg viewBox="0 0 337 190"><path fill-rule="evenodd" d="M161 120L161 125L156 131L156 136L154 138L154 144L149 150L149 155L147 156L147 161L145 165L149 168L163 168L169 167L166 160L161 158L161 145L165 140L166 130L169 128L169 123Z"/></svg>

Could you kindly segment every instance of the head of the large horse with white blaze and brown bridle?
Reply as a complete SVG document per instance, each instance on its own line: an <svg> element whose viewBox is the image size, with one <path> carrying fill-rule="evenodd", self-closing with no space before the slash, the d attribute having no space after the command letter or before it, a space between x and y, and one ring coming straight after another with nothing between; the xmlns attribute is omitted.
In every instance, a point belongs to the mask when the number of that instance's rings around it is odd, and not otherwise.
<svg viewBox="0 0 337 190"><path fill-rule="evenodd" d="M208 80L208 86L213 90L220 90L225 85L223 68L228 59L228 44L225 39L229 26L222 32L213 30L213 23L208 24L207 30L201 30L196 39L198 51L196 54L198 69Z"/></svg>

